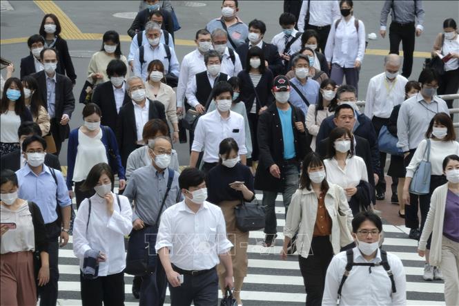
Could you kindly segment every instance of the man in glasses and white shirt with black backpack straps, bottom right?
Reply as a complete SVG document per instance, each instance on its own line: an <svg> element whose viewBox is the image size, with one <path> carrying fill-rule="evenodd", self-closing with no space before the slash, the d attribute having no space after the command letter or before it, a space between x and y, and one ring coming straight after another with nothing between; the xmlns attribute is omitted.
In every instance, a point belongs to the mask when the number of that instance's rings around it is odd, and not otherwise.
<svg viewBox="0 0 459 306"><path fill-rule="evenodd" d="M402 260L378 249L382 236L380 217L370 212L359 213L352 220L352 231L357 247L342 251L331 260L322 306L336 306L337 302L343 306L406 305L407 280Z"/></svg>

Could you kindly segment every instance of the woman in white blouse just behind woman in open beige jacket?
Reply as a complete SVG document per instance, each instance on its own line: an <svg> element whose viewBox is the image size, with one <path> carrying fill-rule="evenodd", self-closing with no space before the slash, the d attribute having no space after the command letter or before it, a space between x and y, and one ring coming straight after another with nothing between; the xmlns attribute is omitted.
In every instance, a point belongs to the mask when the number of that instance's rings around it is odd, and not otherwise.
<svg viewBox="0 0 459 306"><path fill-rule="evenodd" d="M334 128L329 135L327 144L326 178L344 189L347 201L358 192L360 181L368 183L367 166L362 157L354 155L354 137L347 128ZM350 202L349 207L355 216L360 205Z"/></svg>

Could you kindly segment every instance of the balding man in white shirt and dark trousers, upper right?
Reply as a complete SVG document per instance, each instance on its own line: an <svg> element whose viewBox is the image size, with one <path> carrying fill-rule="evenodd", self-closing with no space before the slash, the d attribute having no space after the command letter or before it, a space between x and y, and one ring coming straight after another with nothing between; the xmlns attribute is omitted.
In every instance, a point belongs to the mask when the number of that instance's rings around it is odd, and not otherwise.
<svg viewBox="0 0 459 306"><path fill-rule="evenodd" d="M382 126L389 123L389 117L394 106L404 101L404 86L408 80L398 74L402 61L396 54L384 57L384 73L375 75L370 79L364 114L371 119L375 128L376 137L380 134ZM376 185L376 200L384 200L386 181L384 180L384 166L387 154L380 152L380 180ZM392 178L391 201L398 202L397 196L398 178Z"/></svg>

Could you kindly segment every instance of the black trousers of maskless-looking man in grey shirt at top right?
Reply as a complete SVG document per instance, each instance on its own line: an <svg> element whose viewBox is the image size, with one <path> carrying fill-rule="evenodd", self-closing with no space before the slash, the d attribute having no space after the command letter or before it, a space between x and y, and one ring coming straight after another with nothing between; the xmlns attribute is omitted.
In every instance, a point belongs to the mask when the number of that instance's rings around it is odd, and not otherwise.
<svg viewBox="0 0 459 306"><path fill-rule="evenodd" d="M409 78L411 70L413 69L413 52L414 52L414 35L416 28L414 22L411 23L396 23L392 22L389 26L389 42L391 50L389 53L398 54L400 48L400 41L402 41L403 48L403 67L402 75Z"/></svg>

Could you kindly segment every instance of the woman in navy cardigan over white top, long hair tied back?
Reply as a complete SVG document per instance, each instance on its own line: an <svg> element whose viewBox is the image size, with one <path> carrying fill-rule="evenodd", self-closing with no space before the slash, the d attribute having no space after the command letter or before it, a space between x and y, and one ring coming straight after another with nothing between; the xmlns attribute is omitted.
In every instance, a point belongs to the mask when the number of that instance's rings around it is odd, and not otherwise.
<svg viewBox="0 0 459 306"><path fill-rule="evenodd" d="M119 190L126 186L124 167L118 144L112 129L101 126L101 110L97 104L88 103L83 108L84 124L70 132L67 151L67 188L72 198L72 186L75 182L75 198L77 209L85 198L94 194L92 189L83 191L81 186L86 181L92 166L105 162L111 165L119 178Z"/></svg>

